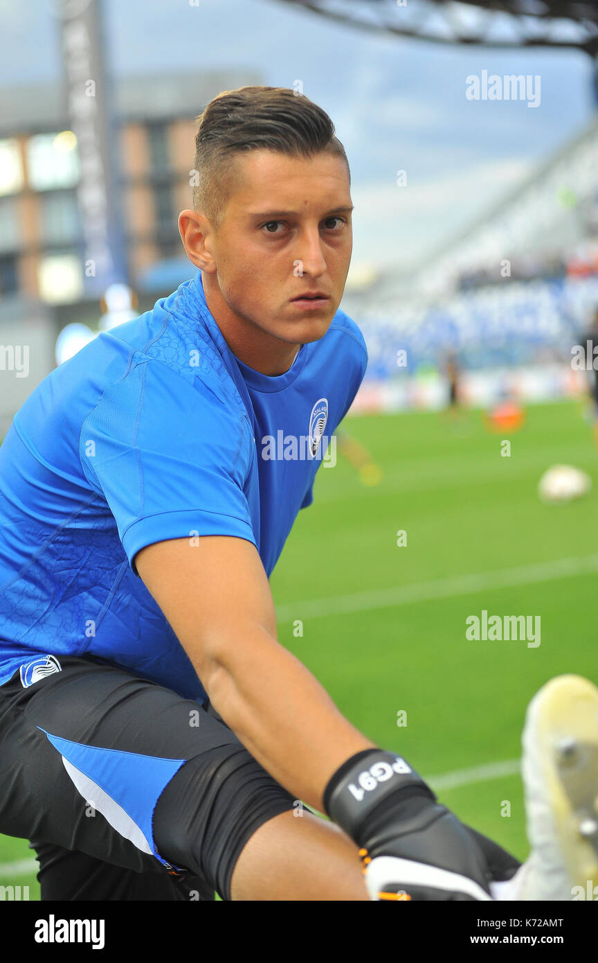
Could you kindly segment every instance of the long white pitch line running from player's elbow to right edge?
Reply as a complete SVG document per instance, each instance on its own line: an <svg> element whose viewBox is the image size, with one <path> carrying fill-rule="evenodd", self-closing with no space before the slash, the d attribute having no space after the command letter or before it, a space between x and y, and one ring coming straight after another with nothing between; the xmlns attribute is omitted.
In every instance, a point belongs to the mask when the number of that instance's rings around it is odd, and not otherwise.
<svg viewBox="0 0 598 963"><path fill-rule="evenodd" d="M365 592L353 592L351 595L333 595L330 598L294 602L277 606L276 614L280 622L291 622L296 618L320 618L325 615L343 615L348 612L392 609L410 602L430 602L433 599L467 595L486 591L486 589L550 582L553 579L565 579L573 575L586 575L593 572L598 572L598 555L589 555L582 559L556 559L533 565L521 565L518 568L499 568L494 572L458 575L453 579L419 582L412 586L374 588Z"/></svg>

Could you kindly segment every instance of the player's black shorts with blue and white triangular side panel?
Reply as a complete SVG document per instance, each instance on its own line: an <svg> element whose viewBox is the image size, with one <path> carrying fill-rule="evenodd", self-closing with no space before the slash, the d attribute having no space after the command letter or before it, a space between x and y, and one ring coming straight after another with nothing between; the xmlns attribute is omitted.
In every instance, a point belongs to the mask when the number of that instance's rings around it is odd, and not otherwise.
<svg viewBox="0 0 598 963"><path fill-rule="evenodd" d="M247 840L295 800L208 705L117 666L0 686L0 833L42 899L230 899Z"/></svg>

